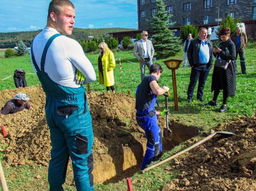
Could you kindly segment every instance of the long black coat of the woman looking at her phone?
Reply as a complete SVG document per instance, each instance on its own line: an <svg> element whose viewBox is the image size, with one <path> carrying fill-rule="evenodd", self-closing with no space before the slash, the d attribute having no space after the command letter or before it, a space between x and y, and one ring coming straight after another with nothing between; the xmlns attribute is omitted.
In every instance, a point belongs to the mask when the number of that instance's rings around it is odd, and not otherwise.
<svg viewBox="0 0 256 191"><path fill-rule="evenodd" d="M213 67L212 81L211 81L211 91L219 89L227 89L228 96L235 96L236 94L236 46L231 41L230 38L226 42L221 42L219 44L221 49L220 53L215 54L216 59L220 56L222 60L229 61L227 69ZM228 49L229 53L225 50Z"/></svg>

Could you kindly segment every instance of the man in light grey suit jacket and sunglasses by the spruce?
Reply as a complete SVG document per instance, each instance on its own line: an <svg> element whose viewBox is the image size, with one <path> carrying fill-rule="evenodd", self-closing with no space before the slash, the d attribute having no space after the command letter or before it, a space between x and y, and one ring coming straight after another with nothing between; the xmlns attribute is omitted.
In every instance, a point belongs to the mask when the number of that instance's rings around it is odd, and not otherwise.
<svg viewBox="0 0 256 191"><path fill-rule="evenodd" d="M152 63L152 58L154 55L154 47L152 45L151 40L148 40L148 32L141 32L142 38L135 42L134 45L134 56L139 60L139 64L141 66L141 81L145 76L145 65L147 65L148 69Z"/></svg>

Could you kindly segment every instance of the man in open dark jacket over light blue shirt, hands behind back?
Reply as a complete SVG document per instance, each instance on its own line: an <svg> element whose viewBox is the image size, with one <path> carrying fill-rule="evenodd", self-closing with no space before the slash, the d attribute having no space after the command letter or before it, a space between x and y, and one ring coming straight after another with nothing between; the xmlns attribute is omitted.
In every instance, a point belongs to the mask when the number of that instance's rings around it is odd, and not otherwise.
<svg viewBox="0 0 256 191"><path fill-rule="evenodd" d="M207 29L201 27L198 30L198 38L192 40L187 50L187 59L191 66L190 82L187 89L187 102L191 103L195 85L198 80L197 99L203 99L204 84L209 75L213 61L213 50L210 40L207 40Z"/></svg>

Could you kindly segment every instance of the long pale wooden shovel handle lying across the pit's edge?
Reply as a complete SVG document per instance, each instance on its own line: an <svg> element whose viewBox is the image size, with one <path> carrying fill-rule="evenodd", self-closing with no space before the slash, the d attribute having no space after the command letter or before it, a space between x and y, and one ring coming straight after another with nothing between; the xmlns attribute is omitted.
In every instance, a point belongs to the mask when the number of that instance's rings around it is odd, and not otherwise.
<svg viewBox="0 0 256 191"><path fill-rule="evenodd" d="M168 162L169 160L172 160L173 158L176 158L177 156L179 155L182 155L183 153L186 153L187 151L195 148L196 146L206 142L207 140L209 140L210 138L212 138L214 135L216 135L217 133L211 133L211 135L207 136L206 138L200 140L199 142L197 142L196 144L193 144L192 146L190 147L187 147L186 149L184 149L183 151L180 151L179 153L176 153L175 155L173 156L170 156L169 158L166 158L165 160L162 160L161 162L158 162L150 167L147 167L145 168L144 170L141 170L142 173L145 173L146 171L154 168L154 167L157 167L157 166L160 166L161 164L165 163L165 162Z"/></svg>

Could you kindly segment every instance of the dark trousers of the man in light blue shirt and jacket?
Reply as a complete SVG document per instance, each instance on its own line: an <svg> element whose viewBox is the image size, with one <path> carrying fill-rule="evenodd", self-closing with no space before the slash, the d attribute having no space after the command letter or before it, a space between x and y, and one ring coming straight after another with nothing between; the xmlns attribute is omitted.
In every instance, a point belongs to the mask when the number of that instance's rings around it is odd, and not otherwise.
<svg viewBox="0 0 256 191"><path fill-rule="evenodd" d="M209 75L211 66L208 65L200 65L199 67L192 67L190 74L190 82L187 88L187 99L192 99L194 95L194 89L198 80L198 88L197 88L197 99L201 99L203 97L204 84Z"/></svg>

